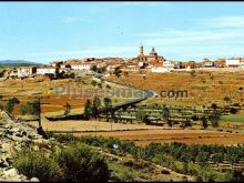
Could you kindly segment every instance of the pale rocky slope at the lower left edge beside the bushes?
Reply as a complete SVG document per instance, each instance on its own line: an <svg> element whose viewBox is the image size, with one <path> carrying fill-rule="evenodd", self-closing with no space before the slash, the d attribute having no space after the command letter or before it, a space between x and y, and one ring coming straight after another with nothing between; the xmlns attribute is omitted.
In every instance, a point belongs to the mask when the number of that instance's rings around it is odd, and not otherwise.
<svg viewBox="0 0 244 183"><path fill-rule="evenodd" d="M39 181L37 177L28 180L12 166L13 156L21 150L40 148L50 150L52 140L45 140L28 125L11 119L6 112L0 111L0 182L3 181Z"/></svg>

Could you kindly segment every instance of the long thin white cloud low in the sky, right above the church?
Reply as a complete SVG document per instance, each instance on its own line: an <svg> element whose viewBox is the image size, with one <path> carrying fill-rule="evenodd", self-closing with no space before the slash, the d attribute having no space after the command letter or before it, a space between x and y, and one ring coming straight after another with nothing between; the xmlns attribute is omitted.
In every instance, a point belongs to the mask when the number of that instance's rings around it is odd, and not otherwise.
<svg viewBox="0 0 244 183"><path fill-rule="evenodd" d="M146 44L177 45L177 44L218 44L244 39L243 30L164 30L160 32L140 33L138 38Z"/></svg>

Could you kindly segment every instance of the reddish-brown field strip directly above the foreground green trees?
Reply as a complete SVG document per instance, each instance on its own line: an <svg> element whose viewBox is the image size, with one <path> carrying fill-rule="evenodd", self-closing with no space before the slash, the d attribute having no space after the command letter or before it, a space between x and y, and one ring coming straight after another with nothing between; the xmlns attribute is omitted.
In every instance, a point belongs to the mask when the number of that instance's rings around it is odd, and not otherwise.
<svg viewBox="0 0 244 183"><path fill-rule="evenodd" d="M138 145L146 145L152 142L169 143L183 142L195 144L237 144L244 143L243 134L231 134L227 132L206 131L206 130L140 130L124 132L83 132L74 135L102 135L114 136L121 140L134 141Z"/></svg>

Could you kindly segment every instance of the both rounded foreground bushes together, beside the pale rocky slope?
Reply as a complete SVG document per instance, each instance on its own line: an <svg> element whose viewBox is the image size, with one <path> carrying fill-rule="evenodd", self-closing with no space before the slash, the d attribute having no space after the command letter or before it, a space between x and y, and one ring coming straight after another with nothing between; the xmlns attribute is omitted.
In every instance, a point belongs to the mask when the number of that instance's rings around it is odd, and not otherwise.
<svg viewBox="0 0 244 183"><path fill-rule="evenodd" d="M23 151L17 154L13 166L22 174L40 181L105 182L108 164L93 149L77 143L59 153Z"/></svg>

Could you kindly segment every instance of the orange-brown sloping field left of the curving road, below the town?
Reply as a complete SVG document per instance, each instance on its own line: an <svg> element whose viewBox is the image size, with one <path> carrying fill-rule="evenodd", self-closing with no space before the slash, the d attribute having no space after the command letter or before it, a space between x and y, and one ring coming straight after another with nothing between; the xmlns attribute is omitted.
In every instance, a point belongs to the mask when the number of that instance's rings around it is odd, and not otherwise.
<svg viewBox="0 0 244 183"><path fill-rule="evenodd" d="M92 77L83 77L80 80L50 80L43 77L23 80L9 79L0 82L0 94L3 95L3 100L17 96L20 100L20 104L34 101L34 95L41 94L43 96L41 102L44 103L42 104L42 113L44 115L63 114L67 102L69 102L72 108L71 113L82 113L87 99L93 100L95 92L101 90L98 85L94 87L92 84ZM96 83L99 83L99 81L96 81ZM124 89L124 87L108 84L105 82L102 83L102 89L105 90L106 85L110 85L114 90ZM57 94L58 92L60 92L60 94ZM105 93L100 92L99 96L103 100ZM112 98L113 103L129 99L118 98L116 95ZM3 102L1 102L1 104L3 104ZM13 114L20 114L20 104L14 106Z"/></svg>

